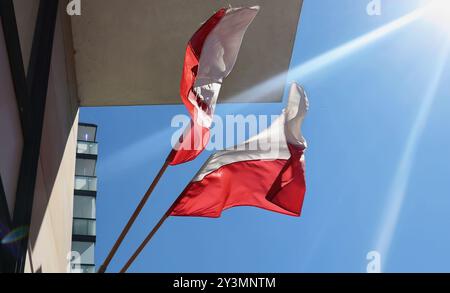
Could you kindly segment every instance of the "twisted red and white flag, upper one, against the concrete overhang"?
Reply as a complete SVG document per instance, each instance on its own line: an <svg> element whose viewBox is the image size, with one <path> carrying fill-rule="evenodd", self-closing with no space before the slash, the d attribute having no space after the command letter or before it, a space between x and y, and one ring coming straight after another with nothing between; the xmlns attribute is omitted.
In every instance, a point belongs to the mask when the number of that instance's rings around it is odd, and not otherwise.
<svg viewBox="0 0 450 293"><path fill-rule="evenodd" d="M181 78L181 99L191 116L170 157L170 165L195 159L209 142L222 81L236 63L244 34L259 7L222 8L188 43Z"/></svg>

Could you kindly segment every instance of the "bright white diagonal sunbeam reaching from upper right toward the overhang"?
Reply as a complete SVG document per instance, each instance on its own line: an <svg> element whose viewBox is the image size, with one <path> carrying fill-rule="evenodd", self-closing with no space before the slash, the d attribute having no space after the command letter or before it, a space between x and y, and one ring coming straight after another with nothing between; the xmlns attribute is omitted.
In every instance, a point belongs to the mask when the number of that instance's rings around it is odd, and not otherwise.
<svg viewBox="0 0 450 293"><path fill-rule="evenodd" d="M327 51L303 64L291 68L287 73L280 73L260 84L257 84L250 89L227 99L227 102L242 100L244 98L251 101L252 99L256 100L259 96L270 94L271 92L274 92L280 84L283 84L286 81L286 74L288 80L299 80L301 82L302 79L306 78L307 76L414 22L415 20L422 17L424 15L424 12L425 8L416 9L413 12L410 12L409 14L404 15L399 19L394 20L378 29L375 29L339 47Z"/></svg>

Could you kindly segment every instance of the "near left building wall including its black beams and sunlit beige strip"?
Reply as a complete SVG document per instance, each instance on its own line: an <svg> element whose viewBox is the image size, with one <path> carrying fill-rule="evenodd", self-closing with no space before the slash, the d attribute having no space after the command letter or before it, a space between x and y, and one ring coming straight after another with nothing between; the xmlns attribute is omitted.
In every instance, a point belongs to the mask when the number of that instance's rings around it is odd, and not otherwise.
<svg viewBox="0 0 450 293"><path fill-rule="evenodd" d="M0 272L69 267L79 101L66 5L0 1Z"/></svg>

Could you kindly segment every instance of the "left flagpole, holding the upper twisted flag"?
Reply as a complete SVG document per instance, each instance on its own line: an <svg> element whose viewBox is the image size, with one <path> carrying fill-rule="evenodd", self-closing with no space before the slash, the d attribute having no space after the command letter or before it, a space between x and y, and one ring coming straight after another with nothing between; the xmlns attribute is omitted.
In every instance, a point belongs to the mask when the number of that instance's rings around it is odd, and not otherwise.
<svg viewBox="0 0 450 293"><path fill-rule="evenodd" d="M106 272L106 269L108 268L109 263L111 262L112 258L116 254L117 250L120 247L120 244L122 243L123 239L127 235L128 231L130 231L131 226L133 225L134 221L142 211L143 207L145 206L145 203L150 198L150 195L152 194L153 190L155 189L156 185L158 184L159 180L161 179L162 175L166 171L167 167L169 167L169 164L173 158L174 150L172 150L169 155L167 156L164 165L159 170L158 174L156 175L155 179L153 179L152 184L147 189L147 192L145 192L144 196L142 197L141 201L139 202L138 206L134 210L133 214L131 215L130 219L128 220L128 223L123 228L122 232L120 233L119 238L117 238L116 242L114 243L114 246L112 247L111 251L109 252L108 256L104 260L103 264L98 269L98 273L104 273ZM161 223L162 224L162 223Z"/></svg>

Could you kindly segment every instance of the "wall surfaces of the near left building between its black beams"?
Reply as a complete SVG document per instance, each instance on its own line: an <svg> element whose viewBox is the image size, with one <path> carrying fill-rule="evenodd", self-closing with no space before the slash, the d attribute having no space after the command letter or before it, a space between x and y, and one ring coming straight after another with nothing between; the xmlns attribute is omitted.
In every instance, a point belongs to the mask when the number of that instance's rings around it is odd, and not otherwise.
<svg viewBox="0 0 450 293"><path fill-rule="evenodd" d="M78 99L70 20L60 1L30 226L26 272L66 272L71 250ZM14 0L24 62L28 63L38 1ZM0 172L13 212L22 133L0 34Z"/></svg>

